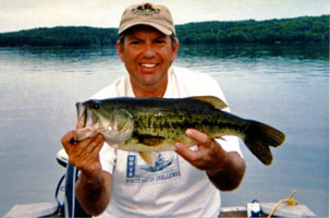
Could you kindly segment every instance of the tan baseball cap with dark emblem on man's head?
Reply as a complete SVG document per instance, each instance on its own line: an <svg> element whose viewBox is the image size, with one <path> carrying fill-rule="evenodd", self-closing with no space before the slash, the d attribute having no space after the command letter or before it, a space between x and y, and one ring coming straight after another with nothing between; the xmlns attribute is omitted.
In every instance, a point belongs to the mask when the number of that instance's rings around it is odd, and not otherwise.
<svg viewBox="0 0 330 218"><path fill-rule="evenodd" d="M164 35L175 35L171 12L164 5L143 3L129 7L122 15L118 34L136 25L152 26Z"/></svg>

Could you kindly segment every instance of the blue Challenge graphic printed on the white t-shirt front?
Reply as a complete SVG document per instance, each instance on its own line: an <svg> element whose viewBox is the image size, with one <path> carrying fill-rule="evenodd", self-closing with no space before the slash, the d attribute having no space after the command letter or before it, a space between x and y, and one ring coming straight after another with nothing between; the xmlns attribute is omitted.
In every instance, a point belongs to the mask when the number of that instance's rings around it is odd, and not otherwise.
<svg viewBox="0 0 330 218"><path fill-rule="evenodd" d="M149 184L178 179L181 175L179 157L173 152L157 153L155 167L147 165L137 154L129 154L126 183Z"/></svg>

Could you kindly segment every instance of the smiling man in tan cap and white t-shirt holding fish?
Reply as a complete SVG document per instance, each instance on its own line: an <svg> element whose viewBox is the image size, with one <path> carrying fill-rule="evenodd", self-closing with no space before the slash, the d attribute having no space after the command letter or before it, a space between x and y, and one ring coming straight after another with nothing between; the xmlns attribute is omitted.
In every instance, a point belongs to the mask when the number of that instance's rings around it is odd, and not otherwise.
<svg viewBox="0 0 330 218"><path fill-rule="evenodd" d="M93 98L213 95L224 100L211 77L171 66L179 41L166 7L127 8L119 35L117 49L129 74ZM195 147L178 142L176 152L159 153L152 168L137 154L110 147L100 134L73 145L74 131L66 133L63 147L81 171L76 183L81 205L90 215L106 210L102 215L111 217L218 216L219 190L237 187L245 171L237 140L216 141L193 129L186 135L196 141Z"/></svg>

